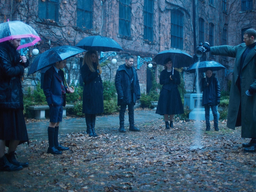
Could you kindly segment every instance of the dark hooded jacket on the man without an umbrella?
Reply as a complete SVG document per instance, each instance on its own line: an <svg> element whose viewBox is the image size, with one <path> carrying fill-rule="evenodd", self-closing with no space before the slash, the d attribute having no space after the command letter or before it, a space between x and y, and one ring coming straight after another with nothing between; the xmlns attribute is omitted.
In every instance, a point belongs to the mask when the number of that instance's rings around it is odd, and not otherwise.
<svg viewBox="0 0 256 192"><path fill-rule="evenodd" d="M131 80L128 75L128 72L125 69L125 63L123 65L120 65L116 71L115 86L118 96L118 106L128 105L131 102L133 102L135 105L137 98L140 96L140 84L137 75L137 70L133 66L131 68L133 73L133 93L131 93ZM124 98L123 101L119 100L119 98L121 97Z"/></svg>

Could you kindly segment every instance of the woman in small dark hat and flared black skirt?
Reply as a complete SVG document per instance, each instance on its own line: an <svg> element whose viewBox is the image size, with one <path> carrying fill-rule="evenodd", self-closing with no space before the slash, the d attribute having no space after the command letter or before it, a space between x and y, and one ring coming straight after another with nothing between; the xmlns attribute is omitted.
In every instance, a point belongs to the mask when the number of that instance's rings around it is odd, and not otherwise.
<svg viewBox="0 0 256 192"><path fill-rule="evenodd" d="M156 114L164 115L165 129L173 128L173 116L184 113L180 98L178 85L180 84L180 74L174 70L172 75L172 59L164 60L164 70L160 73L159 83L163 85L160 92ZM169 119L170 116L170 126Z"/></svg>

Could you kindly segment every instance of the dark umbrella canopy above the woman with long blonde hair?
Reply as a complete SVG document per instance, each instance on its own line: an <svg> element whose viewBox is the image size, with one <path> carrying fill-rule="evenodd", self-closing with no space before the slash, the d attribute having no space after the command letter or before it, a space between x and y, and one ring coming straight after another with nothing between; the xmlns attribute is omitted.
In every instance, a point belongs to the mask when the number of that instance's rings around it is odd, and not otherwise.
<svg viewBox="0 0 256 192"><path fill-rule="evenodd" d="M76 47L80 47L86 51L95 50L101 52L123 50L114 39L101 35L85 37L76 44Z"/></svg>

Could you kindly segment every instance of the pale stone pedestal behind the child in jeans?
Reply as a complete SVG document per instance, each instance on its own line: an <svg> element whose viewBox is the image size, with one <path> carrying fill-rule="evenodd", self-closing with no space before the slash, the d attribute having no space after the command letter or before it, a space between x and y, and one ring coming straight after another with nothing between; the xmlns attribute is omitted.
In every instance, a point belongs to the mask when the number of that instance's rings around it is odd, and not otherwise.
<svg viewBox="0 0 256 192"><path fill-rule="evenodd" d="M203 93L186 93L184 95L184 106L188 106L191 110L189 113L189 119L192 120L204 120L205 121L205 112L204 106L202 106L202 96ZM199 102L199 103L198 103ZM218 107L217 107L218 110ZM220 113L218 113L218 119L220 118ZM212 110L210 109L210 121L213 120Z"/></svg>

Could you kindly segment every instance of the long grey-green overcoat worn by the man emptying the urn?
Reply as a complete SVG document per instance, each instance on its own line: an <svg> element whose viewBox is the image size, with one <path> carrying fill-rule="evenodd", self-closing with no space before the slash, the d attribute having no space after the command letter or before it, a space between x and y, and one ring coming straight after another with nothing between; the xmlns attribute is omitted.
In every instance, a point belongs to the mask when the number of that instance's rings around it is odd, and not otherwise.
<svg viewBox="0 0 256 192"><path fill-rule="evenodd" d="M256 89L256 46L247 54L242 68L241 93L236 85L240 61L247 46L243 43L237 46L213 46L211 47L212 55L223 55L234 57L235 65L232 76L232 83L228 105L228 122L227 127L235 129L235 126L242 125L242 137L256 138L256 94L248 96L246 90L252 86ZM238 109L241 102L241 122L237 122Z"/></svg>

